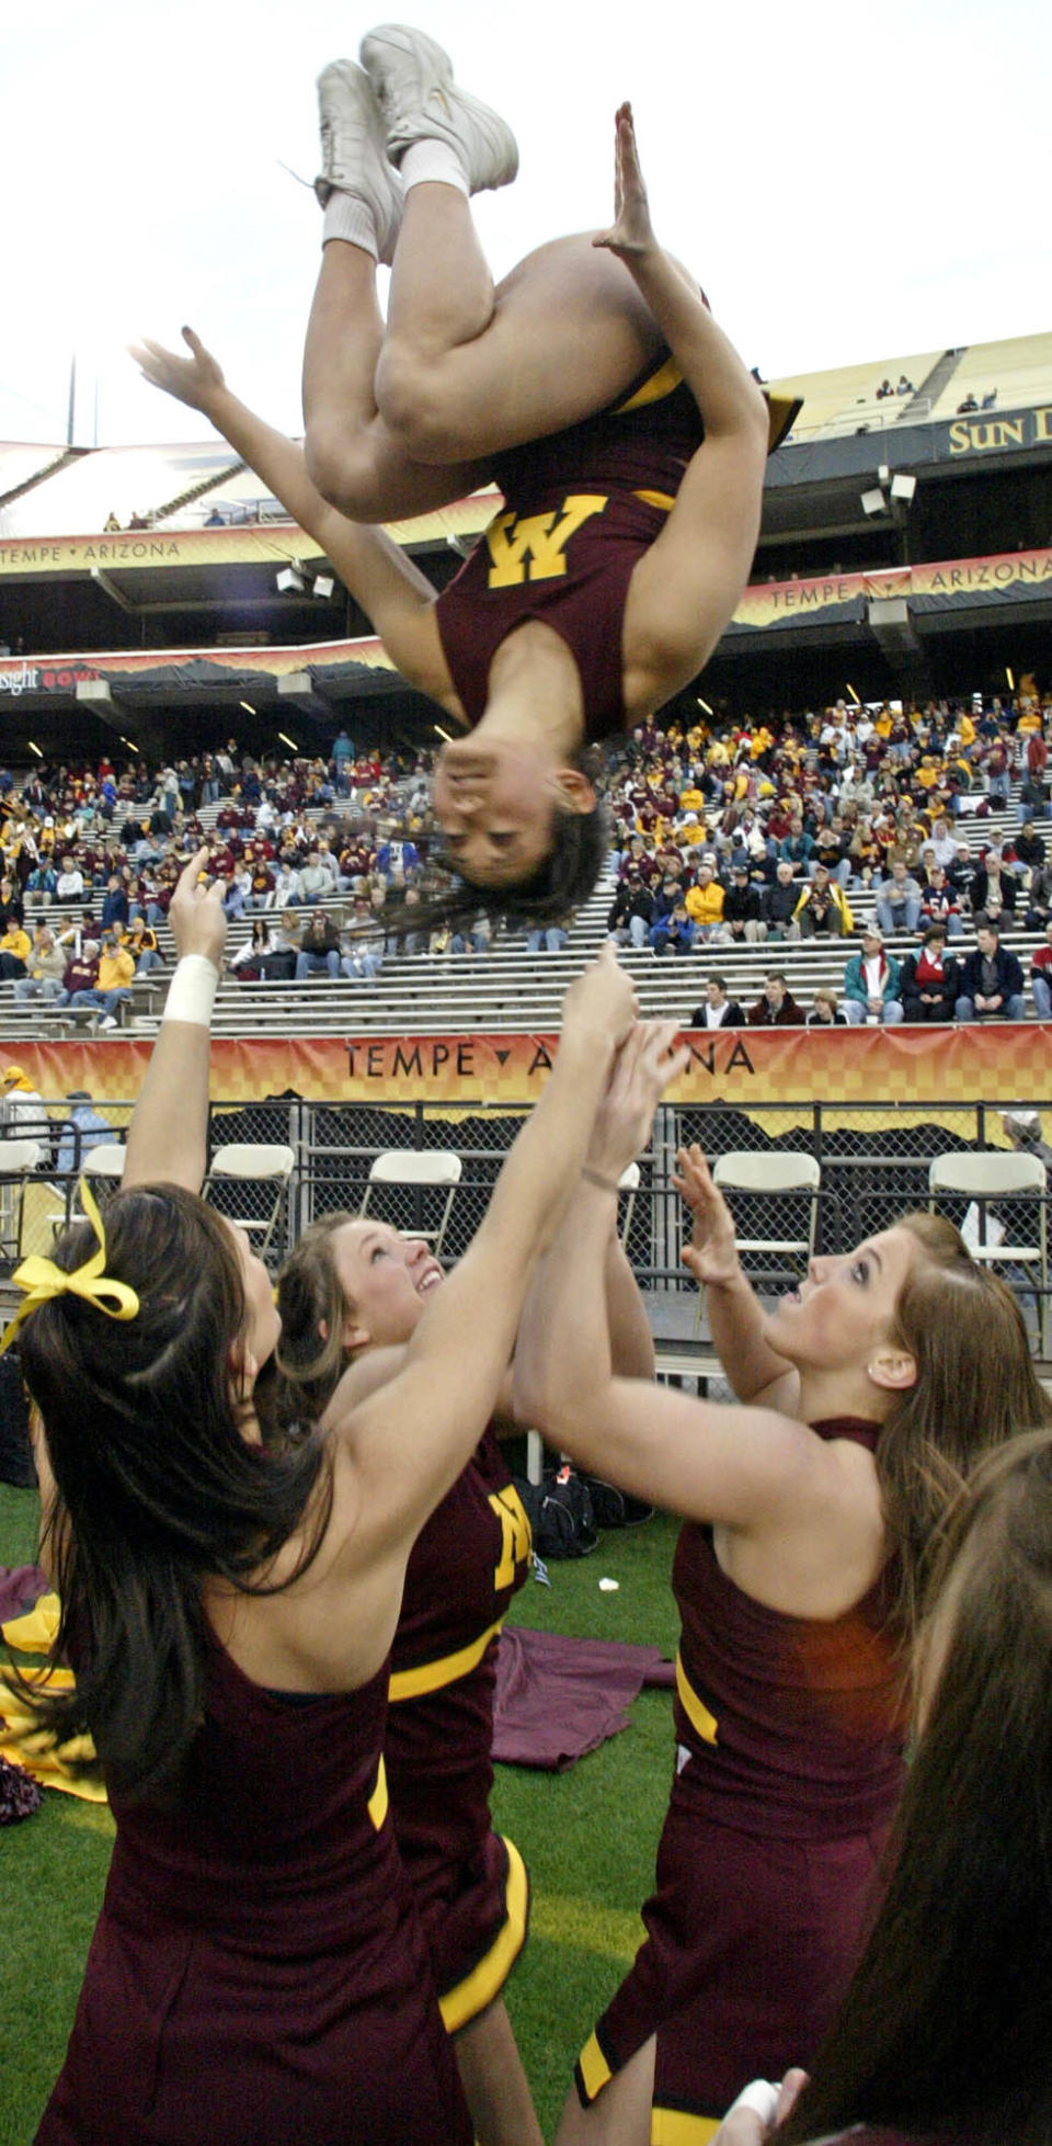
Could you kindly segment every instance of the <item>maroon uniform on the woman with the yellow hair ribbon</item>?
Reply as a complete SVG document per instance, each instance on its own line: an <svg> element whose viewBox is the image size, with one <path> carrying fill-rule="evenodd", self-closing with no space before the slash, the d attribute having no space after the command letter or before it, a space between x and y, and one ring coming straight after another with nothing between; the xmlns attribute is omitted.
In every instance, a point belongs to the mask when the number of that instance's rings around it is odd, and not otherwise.
<svg viewBox="0 0 1052 2146"><path fill-rule="evenodd" d="M36 2146L471 2146L384 1781L388 1663L272 1693L208 1648L174 1809L118 1837Z"/></svg>

